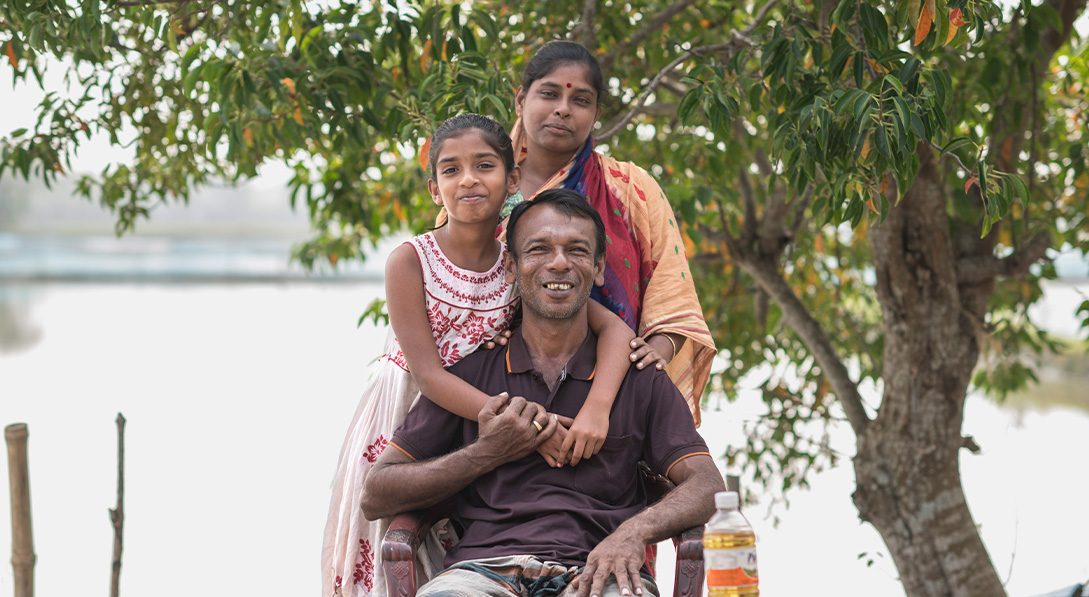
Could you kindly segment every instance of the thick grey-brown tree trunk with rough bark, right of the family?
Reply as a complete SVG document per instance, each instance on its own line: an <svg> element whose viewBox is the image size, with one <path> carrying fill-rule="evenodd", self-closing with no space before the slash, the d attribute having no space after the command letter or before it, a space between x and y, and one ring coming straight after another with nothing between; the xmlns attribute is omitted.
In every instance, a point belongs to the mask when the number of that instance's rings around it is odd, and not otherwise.
<svg viewBox="0 0 1089 597"><path fill-rule="evenodd" d="M957 287L943 181L920 146L915 184L870 231L885 327L884 394L858 437L854 494L881 533L909 597L1005 589L960 486L964 401L991 284Z"/></svg>

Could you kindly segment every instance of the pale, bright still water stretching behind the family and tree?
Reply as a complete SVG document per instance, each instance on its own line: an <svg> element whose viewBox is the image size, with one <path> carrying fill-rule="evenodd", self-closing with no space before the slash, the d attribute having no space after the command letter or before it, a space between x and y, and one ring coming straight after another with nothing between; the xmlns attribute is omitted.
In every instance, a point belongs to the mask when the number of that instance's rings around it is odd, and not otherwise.
<svg viewBox="0 0 1089 597"><path fill-rule="evenodd" d="M382 287L281 278L0 281L0 424L30 431L38 595L109 586L118 412L129 421L122 595L317 594L337 454L384 338L356 320ZM760 410L752 392L710 409L712 453ZM1089 580L1089 416L975 395L966 411L982 453L962 458L964 486L1011 595ZM788 509L746 510L766 596L903 595L851 502L849 429L833 442L841 464ZM9 524L0 515L0 595L13 584ZM670 559L662 550L664 573Z"/></svg>

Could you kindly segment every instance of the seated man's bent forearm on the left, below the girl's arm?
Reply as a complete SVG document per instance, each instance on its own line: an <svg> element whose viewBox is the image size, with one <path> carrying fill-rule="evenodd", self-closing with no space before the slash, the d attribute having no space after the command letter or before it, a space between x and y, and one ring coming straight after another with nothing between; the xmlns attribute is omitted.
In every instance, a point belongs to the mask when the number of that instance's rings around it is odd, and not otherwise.
<svg viewBox="0 0 1089 597"><path fill-rule="evenodd" d="M386 450L397 449L388 446ZM481 452L479 443L470 443L421 462L411 461L400 451L391 454L395 459L380 459L363 486L363 515L374 521L439 503L501 464L492 454Z"/></svg>

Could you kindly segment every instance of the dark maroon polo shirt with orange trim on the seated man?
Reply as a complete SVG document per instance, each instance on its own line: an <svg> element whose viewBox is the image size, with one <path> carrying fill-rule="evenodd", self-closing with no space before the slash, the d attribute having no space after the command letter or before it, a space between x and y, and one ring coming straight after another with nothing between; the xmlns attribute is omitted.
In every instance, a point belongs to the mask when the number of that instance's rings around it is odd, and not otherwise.
<svg viewBox="0 0 1089 597"><path fill-rule="evenodd" d="M586 401L597 361L597 338L586 340L567 362L553 391L534 369L515 330L506 349L479 350L450 371L489 395L510 395L574 417ZM452 452L476 440L477 423L420 398L393 435L395 448L415 460ZM534 452L486 473L456 496L465 526L445 564L477 558L531 555L583 565L594 547L647 505L637 463L666 474L680 460L708 454L692 413L663 371L634 366L620 388L601 450L577 466L549 467Z"/></svg>

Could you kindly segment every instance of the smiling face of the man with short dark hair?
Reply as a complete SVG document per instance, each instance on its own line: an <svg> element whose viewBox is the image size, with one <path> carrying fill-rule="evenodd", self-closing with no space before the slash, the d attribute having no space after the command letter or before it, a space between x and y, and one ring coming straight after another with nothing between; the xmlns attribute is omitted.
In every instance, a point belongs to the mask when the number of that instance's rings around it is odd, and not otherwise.
<svg viewBox="0 0 1089 597"><path fill-rule="evenodd" d="M524 232L523 232L524 231ZM507 255L506 280L518 283L523 309L546 319L570 319L604 283L604 256L595 259L596 229L586 218L534 207L518 221L517 255Z"/></svg>

